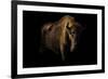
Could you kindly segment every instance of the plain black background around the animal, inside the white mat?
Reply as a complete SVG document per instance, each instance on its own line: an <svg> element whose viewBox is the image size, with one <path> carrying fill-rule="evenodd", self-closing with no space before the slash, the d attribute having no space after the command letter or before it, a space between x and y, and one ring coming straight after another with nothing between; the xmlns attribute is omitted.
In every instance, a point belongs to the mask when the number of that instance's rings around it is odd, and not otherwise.
<svg viewBox="0 0 108 79"><path fill-rule="evenodd" d="M39 52L40 30L48 22L56 22L64 15L76 18L84 28L73 52L66 53L66 60L52 51ZM97 64L97 15L78 13L54 13L23 11L23 67L48 67Z"/></svg>

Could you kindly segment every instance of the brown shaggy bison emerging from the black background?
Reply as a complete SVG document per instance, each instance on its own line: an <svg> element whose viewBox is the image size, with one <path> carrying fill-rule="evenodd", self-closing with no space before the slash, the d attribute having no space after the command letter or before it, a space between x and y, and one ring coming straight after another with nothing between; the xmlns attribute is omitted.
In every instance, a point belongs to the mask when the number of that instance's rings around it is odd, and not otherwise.
<svg viewBox="0 0 108 79"><path fill-rule="evenodd" d="M76 47L78 23L75 17L66 15L54 23L44 24L41 29L40 51L45 49L55 53L60 53L62 60L65 61L67 49L72 52Z"/></svg>

